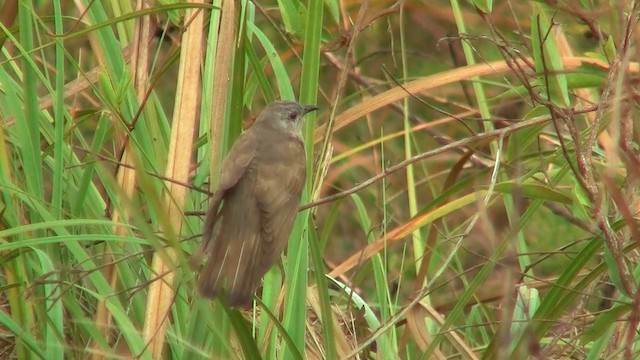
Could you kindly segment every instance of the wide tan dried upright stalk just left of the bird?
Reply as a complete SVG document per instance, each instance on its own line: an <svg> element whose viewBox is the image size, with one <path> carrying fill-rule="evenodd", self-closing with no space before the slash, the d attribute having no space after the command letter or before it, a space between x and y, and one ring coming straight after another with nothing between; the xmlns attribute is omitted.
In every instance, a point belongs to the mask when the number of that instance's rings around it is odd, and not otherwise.
<svg viewBox="0 0 640 360"><path fill-rule="evenodd" d="M193 3L204 3L196 0ZM204 44L204 11L193 9L187 12L187 30L182 37L180 68L176 99L173 112L171 141L165 176L176 182L168 182L168 193L164 196L169 223L161 229L168 238L180 234L183 210L188 189L178 185L189 180L189 168L193 151L194 131L198 125L200 108L200 66ZM176 251L171 247L154 254L153 273L158 276L149 286L143 337L153 359L162 358L162 348L169 319L169 311L174 298L174 272Z"/></svg>

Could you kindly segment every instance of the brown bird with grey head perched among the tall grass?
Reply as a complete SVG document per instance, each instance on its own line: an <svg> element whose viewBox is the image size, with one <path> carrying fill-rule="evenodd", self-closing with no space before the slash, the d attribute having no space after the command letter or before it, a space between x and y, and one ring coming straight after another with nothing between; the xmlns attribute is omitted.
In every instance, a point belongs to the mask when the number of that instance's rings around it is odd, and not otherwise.
<svg viewBox="0 0 640 360"><path fill-rule="evenodd" d="M198 279L203 296L249 306L262 277L280 259L306 176L302 118L317 109L276 101L231 147L204 222L201 250L192 257L198 262L202 252L209 255Z"/></svg>

